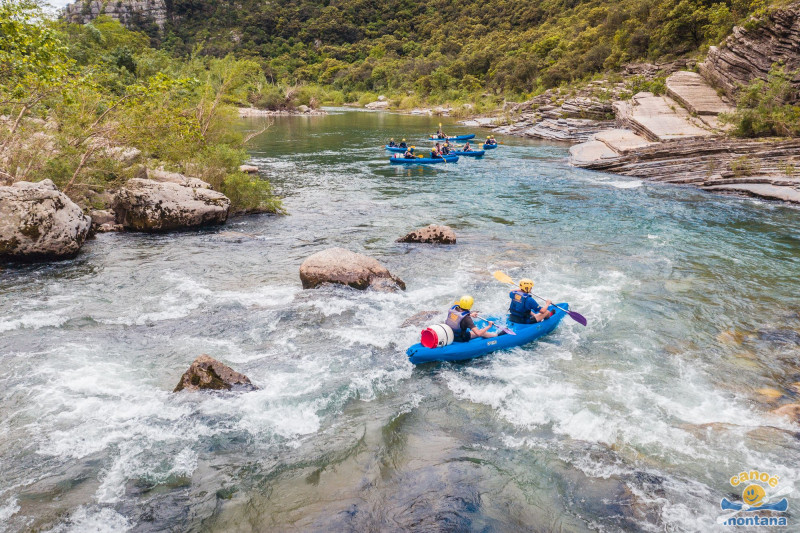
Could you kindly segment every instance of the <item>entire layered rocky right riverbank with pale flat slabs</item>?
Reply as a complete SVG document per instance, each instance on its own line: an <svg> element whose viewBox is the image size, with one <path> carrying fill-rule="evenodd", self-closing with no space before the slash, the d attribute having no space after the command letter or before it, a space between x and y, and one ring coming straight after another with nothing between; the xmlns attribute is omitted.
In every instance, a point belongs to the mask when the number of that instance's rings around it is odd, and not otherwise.
<svg viewBox="0 0 800 533"><path fill-rule="evenodd" d="M800 203L800 140L733 138L720 120L734 111L737 90L766 79L774 64L794 71L800 90L800 3L735 28L699 65L639 64L622 73L658 94L626 94L635 84L607 80L570 94L554 89L508 105L492 131L577 143L570 163L587 169ZM662 78L663 87L653 85Z"/></svg>

